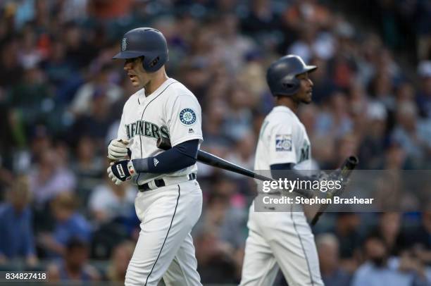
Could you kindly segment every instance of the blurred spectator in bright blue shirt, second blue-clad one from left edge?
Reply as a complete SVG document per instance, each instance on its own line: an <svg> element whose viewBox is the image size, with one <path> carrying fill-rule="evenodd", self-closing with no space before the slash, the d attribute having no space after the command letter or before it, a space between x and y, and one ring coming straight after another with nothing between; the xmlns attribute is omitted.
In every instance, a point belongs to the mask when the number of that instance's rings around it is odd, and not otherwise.
<svg viewBox="0 0 431 286"><path fill-rule="evenodd" d="M48 256L66 253L66 245L73 238L88 243L92 228L87 220L76 211L77 199L70 192L63 192L51 203L56 225L51 233L39 233L37 240Z"/></svg>

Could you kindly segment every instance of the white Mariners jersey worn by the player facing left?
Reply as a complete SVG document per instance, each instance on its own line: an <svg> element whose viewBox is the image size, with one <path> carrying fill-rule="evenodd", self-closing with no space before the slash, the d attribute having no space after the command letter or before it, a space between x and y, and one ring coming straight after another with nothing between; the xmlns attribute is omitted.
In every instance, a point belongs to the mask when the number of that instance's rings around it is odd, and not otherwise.
<svg viewBox="0 0 431 286"><path fill-rule="evenodd" d="M169 78L148 97L144 89L133 94L125 103L118 129L118 138L128 139L132 159L156 156L163 150L156 147L159 137L170 139L174 147L193 139L203 141L201 130L201 106L194 94L184 85ZM135 176L135 183L166 176L196 173L197 167L189 166L175 173L144 174Z"/></svg>

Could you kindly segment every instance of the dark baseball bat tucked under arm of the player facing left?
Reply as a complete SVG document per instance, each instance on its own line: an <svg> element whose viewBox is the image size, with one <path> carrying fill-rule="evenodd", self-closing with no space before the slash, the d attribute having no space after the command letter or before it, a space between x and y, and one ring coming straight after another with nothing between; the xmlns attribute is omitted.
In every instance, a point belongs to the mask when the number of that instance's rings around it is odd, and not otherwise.
<svg viewBox="0 0 431 286"><path fill-rule="evenodd" d="M169 139L166 139L164 137L163 138L160 137L157 139L157 147L159 149L163 149L163 150L168 150L168 149L172 148ZM251 171L251 170L248 170L246 168L238 166L234 163L230 163L229 161L226 161L225 159L220 158L218 156L215 156L215 155L208 153L206 151L198 150L197 161L204 163L206 165L209 165L209 166L213 166L215 168L220 168L223 170L229 170L231 172L245 175L247 177L254 178L257 180L274 181L273 178L268 178L264 175L260 175L258 173ZM296 192L296 193L300 194L301 196L306 197L308 199L311 198L313 195L312 192L307 192L304 189L294 189L294 192Z"/></svg>

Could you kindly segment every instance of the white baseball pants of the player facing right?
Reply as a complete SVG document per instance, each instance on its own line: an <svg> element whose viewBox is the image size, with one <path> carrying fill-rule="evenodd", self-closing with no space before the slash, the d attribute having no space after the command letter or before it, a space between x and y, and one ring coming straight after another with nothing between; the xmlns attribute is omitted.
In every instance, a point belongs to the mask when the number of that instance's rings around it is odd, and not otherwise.
<svg viewBox="0 0 431 286"><path fill-rule="evenodd" d="M255 212L250 206L242 286L273 285L281 268L289 286L320 286L314 236L301 211Z"/></svg>

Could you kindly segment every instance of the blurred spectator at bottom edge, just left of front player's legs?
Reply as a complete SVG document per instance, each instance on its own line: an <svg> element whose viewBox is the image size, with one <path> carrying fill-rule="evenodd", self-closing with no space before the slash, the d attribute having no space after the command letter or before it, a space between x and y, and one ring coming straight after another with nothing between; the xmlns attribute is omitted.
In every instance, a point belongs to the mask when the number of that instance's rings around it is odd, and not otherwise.
<svg viewBox="0 0 431 286"><path fill-rule="evenodd" d="M134 250L135 243L130 241L125 241L115 247L111 256L111 263L106 273L108 280L115 282L124 281L127 266L129 265Z"/></svg>

